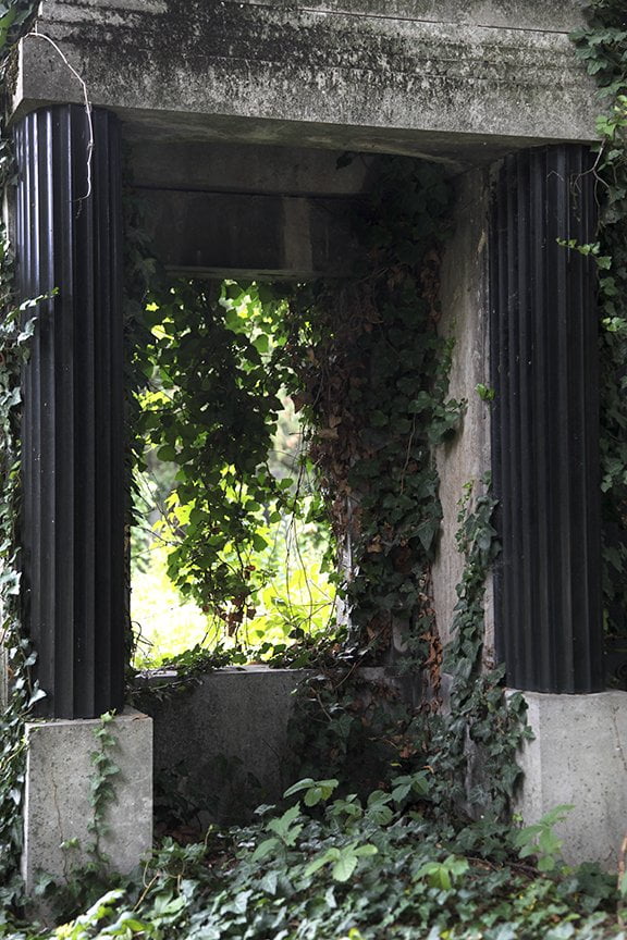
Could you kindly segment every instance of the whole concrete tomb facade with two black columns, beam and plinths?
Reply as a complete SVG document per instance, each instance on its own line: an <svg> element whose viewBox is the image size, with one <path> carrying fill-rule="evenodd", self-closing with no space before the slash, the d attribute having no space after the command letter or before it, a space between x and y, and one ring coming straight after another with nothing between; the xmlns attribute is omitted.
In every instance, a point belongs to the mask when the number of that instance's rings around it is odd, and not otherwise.
<svg viewBox="0 0 627 940"><path fill-rule="evenodd" d="M85 721L124 706L122 148L161 260L194 276L348 273L343 208L368 187L377 154L448 168L457 224L441 329L455 338L451 393L469 405L439 455L435 606L450 622L457 499L489 470L503 554L488 639L536 731L521 812L532 821L575 803L567 855L612 865L627 811L627 703L603 676L594 274L556 243L594 231L586 145L598 103L568 39L581 23L577 0L41 4L10 109L20 288L59 288L25 382L26 610L48 692L48 720L29 729L29 885L37 868L62 871L53 853L37 854L51 844L38 837L46 749L73 727L84 749ZM365 156L339 174L345 150ZM496 387L492 409L479 383ZM149 842L150 781L132 758L140 746L149 765L149 719L121 722L140 832L114 855L128 867ZM69 788L63 799L78 805ZM119 838L130 838L123 827Z"/></svg>

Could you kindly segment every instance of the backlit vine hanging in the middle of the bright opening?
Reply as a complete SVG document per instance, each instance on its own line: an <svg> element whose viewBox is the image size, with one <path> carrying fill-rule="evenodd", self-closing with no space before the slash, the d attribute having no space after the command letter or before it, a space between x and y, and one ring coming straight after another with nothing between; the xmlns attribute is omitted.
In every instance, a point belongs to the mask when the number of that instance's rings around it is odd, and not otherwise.
<svg viewBox="0 0 627 940"><path fill-rule="evenodd" d="M142 436L177 468L167 508L181 537L169 574L232 631L263 580L250 554L267 546L267 523L279 520L291 483L268 469L282 384L259 351L268 334L246 335L237 309L220 299L189 282L155 289L150 341L136 355L150 380ZM257 322L266 325L262 313Z"/></svg>

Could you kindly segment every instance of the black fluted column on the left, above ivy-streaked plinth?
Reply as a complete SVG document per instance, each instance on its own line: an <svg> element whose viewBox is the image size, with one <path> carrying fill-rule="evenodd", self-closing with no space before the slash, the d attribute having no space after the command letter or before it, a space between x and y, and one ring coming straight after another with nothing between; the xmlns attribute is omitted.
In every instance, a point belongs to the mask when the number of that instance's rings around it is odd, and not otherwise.
<svg viewBox="0 0 627 940"><path fill-rule="evenodd" d="M89 718L124 694L121 168L116 120L42 108L14 131L21 297L38 308L24 374L23 603L47 698Z"/></svg>

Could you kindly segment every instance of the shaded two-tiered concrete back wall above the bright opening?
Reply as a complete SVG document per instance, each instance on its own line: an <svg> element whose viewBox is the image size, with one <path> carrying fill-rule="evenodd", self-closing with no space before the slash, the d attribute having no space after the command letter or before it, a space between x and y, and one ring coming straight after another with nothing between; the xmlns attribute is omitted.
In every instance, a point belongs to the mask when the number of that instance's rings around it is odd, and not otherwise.
<svg viewBox="0 0 627 940"><path fill-rule="evenodd" d="M335 150L211 141L132 145L152 250L195 276L346 276L358 246L353 200L377 158L337 169Z"/></svg>

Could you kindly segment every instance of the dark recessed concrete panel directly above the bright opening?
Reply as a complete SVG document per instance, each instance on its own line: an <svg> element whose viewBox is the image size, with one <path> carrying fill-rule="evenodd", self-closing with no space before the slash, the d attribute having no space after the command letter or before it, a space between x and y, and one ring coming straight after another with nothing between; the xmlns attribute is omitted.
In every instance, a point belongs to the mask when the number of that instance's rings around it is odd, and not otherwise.
<svg viewBox="0 0 627 940"><path fill-rule="evenodd" d="M346 199L147 189L147 231L175 274L311 279L355 273Z"/></svg>

